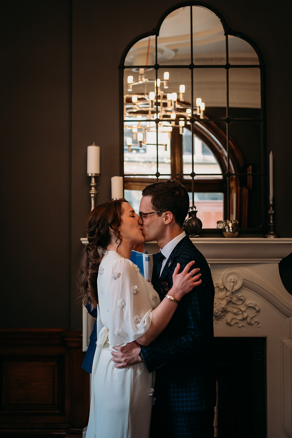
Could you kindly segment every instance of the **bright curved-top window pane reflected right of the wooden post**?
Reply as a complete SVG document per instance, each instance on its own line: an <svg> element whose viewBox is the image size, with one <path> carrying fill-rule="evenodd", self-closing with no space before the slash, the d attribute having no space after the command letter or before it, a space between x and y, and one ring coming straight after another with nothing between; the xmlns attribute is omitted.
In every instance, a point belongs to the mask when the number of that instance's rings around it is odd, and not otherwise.
<svg viewBox="0 0 292 438"><path fill-rule="evenodd" d="M204 141L194 135L193 146L193 171L195 173L207 173L205 176L196 176L195 179L222 179L222 175L208 175L210 173L220 174L222 170L215 155ZM186 128L183 129L183 173L192 173L192 133ZM191 177L186 176L184 178L191 179Z"/></svg>

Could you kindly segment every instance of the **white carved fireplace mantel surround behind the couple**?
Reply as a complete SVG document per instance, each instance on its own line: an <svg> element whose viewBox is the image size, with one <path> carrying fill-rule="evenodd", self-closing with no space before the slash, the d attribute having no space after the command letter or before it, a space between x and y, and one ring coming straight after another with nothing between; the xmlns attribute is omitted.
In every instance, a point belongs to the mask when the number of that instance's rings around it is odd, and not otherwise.
<svg viewBox="0 0 292 438"><path fill-rule="evenodd" d="M215 336L267 338L267 438L292 438L292 295L278 267L292 252L292 239L192 241L212 272ZM159 250L156 242L145 247L150 254Z"/></svg>

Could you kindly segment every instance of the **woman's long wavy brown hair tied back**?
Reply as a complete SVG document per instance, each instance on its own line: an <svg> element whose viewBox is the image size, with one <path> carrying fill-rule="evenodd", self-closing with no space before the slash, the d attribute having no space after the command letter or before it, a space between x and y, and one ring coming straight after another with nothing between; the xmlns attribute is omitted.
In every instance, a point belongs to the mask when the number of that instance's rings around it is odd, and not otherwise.
<svg viewBox="0 0 292 438"><path fill-rule="evenodd" d="M78 286L82 296L82 303L91 304L91 309L98 302L97 276L102 257L110 243L111 234L109 228L116 236L119 246L122 243L122 236L119 228L122 223L122 202L124 200L108 201L98 205L90 213L86 228L88 244L84 247L79 268Z"/></svg>

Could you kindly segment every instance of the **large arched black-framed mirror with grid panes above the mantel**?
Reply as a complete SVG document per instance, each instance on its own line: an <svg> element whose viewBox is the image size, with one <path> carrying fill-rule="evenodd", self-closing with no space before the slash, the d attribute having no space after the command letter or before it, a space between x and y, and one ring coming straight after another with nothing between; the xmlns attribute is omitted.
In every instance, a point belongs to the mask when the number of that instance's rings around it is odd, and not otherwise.
<svg viewBox="0 0 292 438"><path fill-rule="evenodd" d="M196 2L170 8L120 65L125 197L180 180L203 228L265 223L264 62L255 43Z"/></svg>

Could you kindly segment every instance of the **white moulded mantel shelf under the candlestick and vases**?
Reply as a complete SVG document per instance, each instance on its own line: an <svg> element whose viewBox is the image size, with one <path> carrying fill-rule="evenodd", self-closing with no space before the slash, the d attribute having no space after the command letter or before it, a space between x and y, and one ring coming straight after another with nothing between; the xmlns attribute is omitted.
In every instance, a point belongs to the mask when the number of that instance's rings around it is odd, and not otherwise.
<svg viewBox="0 0 292 438"><path fill-rule="evenodd" d="M80 240L84 245L88 243L86 237ZM292 253L292 238L198 237L191 240L208 263L279 263ZM147 246L157 252L156 241L148 242Z"/></svg>

